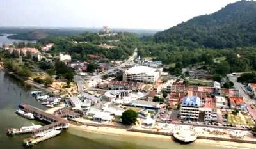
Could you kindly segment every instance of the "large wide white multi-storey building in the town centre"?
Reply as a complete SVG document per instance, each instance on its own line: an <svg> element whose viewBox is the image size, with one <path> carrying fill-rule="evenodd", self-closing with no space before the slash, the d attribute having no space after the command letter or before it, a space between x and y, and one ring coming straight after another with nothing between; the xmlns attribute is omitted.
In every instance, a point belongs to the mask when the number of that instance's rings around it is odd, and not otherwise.
<svg viewBox="0 0 256 149"><path fill-rule="evenodd" d="M137 81L154 84L160 77L163 69L147 66L135 66L124 71L123 81Z"/></svg>

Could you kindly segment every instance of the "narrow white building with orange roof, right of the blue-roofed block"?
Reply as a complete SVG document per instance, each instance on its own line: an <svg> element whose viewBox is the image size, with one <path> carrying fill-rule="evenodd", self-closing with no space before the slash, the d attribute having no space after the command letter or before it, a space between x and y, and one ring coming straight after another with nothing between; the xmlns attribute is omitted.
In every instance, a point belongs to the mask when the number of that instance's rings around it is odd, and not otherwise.
<svg viewBox="0 0 256 149"><path fill-rule="evenodd" d="M205 122L216 122L217 121L217 108L215 98L206 98L205 100Z"/></svg>

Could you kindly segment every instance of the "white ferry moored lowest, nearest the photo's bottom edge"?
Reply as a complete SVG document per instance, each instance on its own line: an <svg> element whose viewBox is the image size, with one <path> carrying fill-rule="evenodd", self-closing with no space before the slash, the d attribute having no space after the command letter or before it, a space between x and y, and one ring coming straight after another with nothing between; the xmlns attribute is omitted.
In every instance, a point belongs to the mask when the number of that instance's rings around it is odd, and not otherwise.
<svg viewBox="0 0 256 149"><path fill-rule="evenodd" d="M35 136L29 137L23 140L23 146L28 147L31 145L35 145L41 141L45 141L46 139L50 139L51 137L57 136L61 133L61 130L49 130L48 132L44 132L41 134L36 134Z"/></svg>

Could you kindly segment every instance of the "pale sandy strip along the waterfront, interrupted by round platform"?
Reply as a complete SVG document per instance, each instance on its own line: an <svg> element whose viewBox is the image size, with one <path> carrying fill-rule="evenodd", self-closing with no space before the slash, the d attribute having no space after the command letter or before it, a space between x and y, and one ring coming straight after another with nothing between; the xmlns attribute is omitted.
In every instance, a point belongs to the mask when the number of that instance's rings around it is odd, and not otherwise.
<svg viewBox="0 0 256 149"><path fill-rule="evenodd" d="M125 129L116 129L116 128L110 128L110 127L94 127L94 126L86 126L86 125L77 126L77 125L70 124L70 128L85 131L85 132L93 132L93 133L107 134L107 135L113 135L113 136L145 137L145 138L152 138L152 139L161 139L164 141L172 141L172 137L170 136L146 134L146 133L140 133L140 132L129 132ZM227 148L244 148L244 149L256 148L255 144L250 144L250 143L214 141L209 139L196 139L194 143L204 143L208 145L221 146L221 147L227 147Z"/></svg>

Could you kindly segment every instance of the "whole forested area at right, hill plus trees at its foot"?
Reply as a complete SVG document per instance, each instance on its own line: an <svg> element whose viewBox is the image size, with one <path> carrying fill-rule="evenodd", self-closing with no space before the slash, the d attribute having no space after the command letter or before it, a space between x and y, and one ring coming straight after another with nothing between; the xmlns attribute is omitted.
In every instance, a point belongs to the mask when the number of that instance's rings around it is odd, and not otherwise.
<svg viewBox="0 0 256 149"><path fill-rule="evenodd" d="M205 64L212 73L256 70L256 2L238 1L141 38L138 54L182 67ZM225 70L221 70L224 67Z"/></svg>

